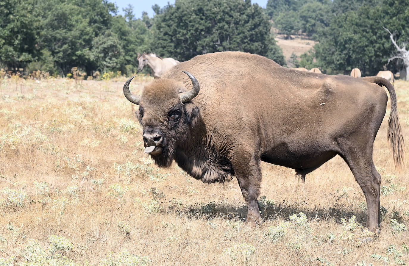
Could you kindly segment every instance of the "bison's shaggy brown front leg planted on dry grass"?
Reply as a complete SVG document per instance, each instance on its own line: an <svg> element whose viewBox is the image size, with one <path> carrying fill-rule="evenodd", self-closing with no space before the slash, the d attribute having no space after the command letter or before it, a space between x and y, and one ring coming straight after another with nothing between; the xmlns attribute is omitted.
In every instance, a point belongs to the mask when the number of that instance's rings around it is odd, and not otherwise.
<svg viewBox="0 0 409 266"><path fill-rule="evenodd" d="M263 222L257 200L261 183L260 160L250 159L244 162L241 161L241 163L234 163L234 172L241 193L247 203L247 219L245 224L255 227L256 224Z"/></svg>

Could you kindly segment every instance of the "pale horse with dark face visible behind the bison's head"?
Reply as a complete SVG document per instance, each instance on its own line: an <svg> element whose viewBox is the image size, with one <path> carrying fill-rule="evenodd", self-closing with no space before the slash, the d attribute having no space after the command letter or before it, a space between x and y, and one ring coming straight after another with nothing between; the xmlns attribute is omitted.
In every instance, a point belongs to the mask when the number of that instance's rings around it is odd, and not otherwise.
<svg viewBox="0 0 409 266"><path fill-rule="evenodd" d="M138 53L138 72L142 71L142 69L148 65L153 71L154 78L160 78L168 69L171 67L178 65L180 62L173 58L162 58L157 56L156 54L139 54Z"/></svg>

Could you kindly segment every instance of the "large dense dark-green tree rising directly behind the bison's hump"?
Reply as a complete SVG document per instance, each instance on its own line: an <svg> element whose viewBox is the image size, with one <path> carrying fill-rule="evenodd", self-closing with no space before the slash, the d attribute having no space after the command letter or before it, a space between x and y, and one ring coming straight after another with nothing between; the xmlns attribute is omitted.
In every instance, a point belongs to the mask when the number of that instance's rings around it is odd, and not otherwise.
<svg viewBox="0 0 409 266"><path fill-rule="evenodd" d="M160 56L184 61L217 51L245 51L285 63L267 16L250 0L176 0L161 10L152 41Z"/></svg>

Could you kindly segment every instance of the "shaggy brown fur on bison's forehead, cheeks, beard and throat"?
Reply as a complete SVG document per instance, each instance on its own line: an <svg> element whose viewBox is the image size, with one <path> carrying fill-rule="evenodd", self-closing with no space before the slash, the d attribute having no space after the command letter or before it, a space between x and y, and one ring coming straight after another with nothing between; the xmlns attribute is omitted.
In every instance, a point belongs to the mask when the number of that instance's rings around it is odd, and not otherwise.
<svg viewBox="0 0 409 266"><path fill-rule="evenodd" d="M181 103L178 94L187 89L174 80L159 79L145 87L141 98L144 116L137 112L141 125L155 127L164 133L164 151L151 156L159 167L169 167L173 160L192 177L204 183L230 180L233 168L227 152L215 148L217 138L208 132L193 101ZM180 120L171 122L167 113L176 105L182 108Z"/></svg>

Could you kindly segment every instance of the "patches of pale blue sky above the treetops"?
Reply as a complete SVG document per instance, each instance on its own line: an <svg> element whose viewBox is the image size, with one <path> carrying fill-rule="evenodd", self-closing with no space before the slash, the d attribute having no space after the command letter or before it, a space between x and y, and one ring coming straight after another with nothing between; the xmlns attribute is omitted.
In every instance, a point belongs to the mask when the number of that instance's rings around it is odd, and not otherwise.
<svg viewBox="0 0 409 266"><path fill-rule="evenodd" d="M200 1L200 0L199 0ZM164 7L168 2L174 4L175 0L110 0L110 2L115 3L118 6L119 14L123 15L123 8L128 7L128 4L133 5L133 13L135 17L140 18L142 16L142 11L148 12L150 17L153 17L152 6L158 4L160 7ZM265 7L267 0L252 0L252 3L257 3L261 7Z"/></svg>

